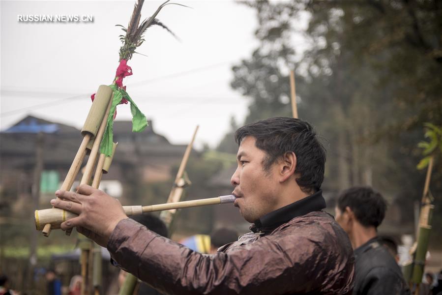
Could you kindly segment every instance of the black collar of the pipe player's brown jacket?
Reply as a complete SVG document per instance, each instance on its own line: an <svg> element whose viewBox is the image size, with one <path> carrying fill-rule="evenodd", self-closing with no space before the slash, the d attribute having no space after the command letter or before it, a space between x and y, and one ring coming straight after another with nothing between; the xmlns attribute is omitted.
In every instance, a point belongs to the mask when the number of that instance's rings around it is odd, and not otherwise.
<svg viewBox="0 0 442 295"><path fill-rule="evenodd" d="M270 229L274 229L295 217L305 215L313 211L321 211L325 207L325 200L322 195L322 190L318 190L313 195L265 214L263 217L254 222L254 225L250 227L250 230L252 230L254 233L263 231L267 232Z"/></svg>

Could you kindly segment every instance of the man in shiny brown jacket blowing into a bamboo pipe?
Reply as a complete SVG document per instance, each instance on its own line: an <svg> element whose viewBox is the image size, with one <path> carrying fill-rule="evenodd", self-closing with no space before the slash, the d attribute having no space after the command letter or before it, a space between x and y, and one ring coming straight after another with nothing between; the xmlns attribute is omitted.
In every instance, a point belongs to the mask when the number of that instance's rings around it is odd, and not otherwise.
<svg viewBox="0 0 442 295"><path fill-rule="evenodd" d="M239 128L235 206L252 232L203 255L128 219L90 186L51 204L79 214L61 224L106 246L125 270L166 294L351 294L348 236L325 213L325 150L313 128L270 118Z"/></svg>

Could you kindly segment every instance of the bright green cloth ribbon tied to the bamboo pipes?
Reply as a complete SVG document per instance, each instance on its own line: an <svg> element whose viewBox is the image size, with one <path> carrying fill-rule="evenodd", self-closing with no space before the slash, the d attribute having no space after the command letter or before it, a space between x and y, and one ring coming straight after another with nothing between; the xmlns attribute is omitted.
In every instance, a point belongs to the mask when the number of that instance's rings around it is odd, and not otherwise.
<svg viewBox="0 0 442 295"><path fill-rule="evenodd" d="M117 105L121 102L123 97L130 102L130 112L132 113L132 132L141 132L147 126L146 116L138 109L135 102L127 94L126 90L118 88L112 84L109 87L114 92L112 98L111 110L107 119L106 130L103 134L103 140L100 145L100 153L104 153L106 157L112 155L112 146L114 142L114 114L117 109Z"/></svg>

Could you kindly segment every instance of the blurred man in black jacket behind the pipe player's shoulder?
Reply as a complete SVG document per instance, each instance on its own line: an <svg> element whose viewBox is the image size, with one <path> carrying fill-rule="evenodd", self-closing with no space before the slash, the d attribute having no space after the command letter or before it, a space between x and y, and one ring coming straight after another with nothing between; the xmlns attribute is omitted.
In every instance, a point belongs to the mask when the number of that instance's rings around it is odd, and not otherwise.
<svg viewBox="0 0 442 295"><path fill-rule="evenodd" d="M377 234L385 209L382 195L370 187L350 188L338 198L336 221L349 235L354 249L354 295L410 294L395 258Z"/></svg>

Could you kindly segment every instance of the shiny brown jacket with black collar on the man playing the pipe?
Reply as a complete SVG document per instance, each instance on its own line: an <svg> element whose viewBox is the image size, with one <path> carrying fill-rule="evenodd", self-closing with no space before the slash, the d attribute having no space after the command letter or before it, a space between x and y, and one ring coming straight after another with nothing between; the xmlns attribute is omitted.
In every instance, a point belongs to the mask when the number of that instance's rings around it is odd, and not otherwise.
<svg viewBox="0 0 442 295"><path fill-rule="evenodd" d="M252 233L200 254L121 220L108 243L126 271L165 294L352 294L354 256L322 192L270 212Z"/></svg>

